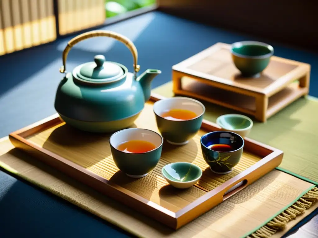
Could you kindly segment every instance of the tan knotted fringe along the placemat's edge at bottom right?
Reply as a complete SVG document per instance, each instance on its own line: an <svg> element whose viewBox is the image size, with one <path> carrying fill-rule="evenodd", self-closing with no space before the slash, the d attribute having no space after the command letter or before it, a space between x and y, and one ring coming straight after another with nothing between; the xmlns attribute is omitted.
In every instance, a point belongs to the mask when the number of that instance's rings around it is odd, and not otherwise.
<svg viewBox="0 0 318 238"><path fill-rule="evenodd" d="M274 217L265 226L247 236L247 238L269 238L277 231L285 228L286 224L304 213L314 202L318 201L318 188L314 187L304 194L297 202Z"/></svg>

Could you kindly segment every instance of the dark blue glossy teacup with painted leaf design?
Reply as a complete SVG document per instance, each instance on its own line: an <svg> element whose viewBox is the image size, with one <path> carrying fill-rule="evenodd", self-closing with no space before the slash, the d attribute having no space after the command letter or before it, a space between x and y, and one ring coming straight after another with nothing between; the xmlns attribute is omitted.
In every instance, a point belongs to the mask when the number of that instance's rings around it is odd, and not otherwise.
<svg viewBox="0 0 318 238"><path fill-rule="evenodd" d="M243 154L244 139L230 131L213 131L201 137L205 162L216 174L232 172Z"/></svg>

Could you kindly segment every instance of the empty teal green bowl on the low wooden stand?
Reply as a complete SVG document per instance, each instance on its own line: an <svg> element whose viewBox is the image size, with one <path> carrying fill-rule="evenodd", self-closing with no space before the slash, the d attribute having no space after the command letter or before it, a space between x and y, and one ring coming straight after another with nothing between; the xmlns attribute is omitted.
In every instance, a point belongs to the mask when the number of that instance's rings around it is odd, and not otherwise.
<svg viewBox="0 0 318 238"><path fill-rule="evenodd" d="M268 66L274 54L271 45L257 41L241 41L232 44L232 60L244 77L256 77Z"/></svg>

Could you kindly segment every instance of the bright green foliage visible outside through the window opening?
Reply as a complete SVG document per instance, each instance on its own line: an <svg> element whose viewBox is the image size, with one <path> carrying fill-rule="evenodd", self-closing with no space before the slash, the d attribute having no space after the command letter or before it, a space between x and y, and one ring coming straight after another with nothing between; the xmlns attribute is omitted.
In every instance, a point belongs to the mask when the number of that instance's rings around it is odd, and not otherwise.
<svg viewBox="0 0 318 238"><path fill-rule="evenodd" d="M106 17L114 17L154 3L156 3L156 0L105 0Z"/></svg>

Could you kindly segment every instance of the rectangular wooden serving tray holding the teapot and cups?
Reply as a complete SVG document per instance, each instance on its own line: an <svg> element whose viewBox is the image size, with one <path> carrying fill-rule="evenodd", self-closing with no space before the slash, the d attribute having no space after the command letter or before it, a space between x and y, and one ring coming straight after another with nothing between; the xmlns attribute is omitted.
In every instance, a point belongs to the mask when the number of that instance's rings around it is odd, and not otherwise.
<svg viewBox="0 0 318 238"><path fill-rule="evenodd" d="M160 99L163 97L151 96L135 127L158 131L153 103ZM216 130L220 130L216 124L204 120L201 130L187 145L164 142L158 165L140 179L118 171L108 142L110 134L73 129L57 114L13 132L9 138L15 147L66 175L178 229L273 170L283 158L282 151L245 138L242 158L233 171L213 174L204 162L200 138ZM192 162L203 170L201 179L189 189L173 188L162 178L162 167L178 161Z"/></svg>

